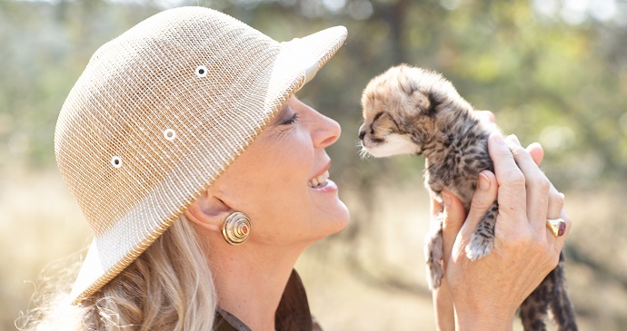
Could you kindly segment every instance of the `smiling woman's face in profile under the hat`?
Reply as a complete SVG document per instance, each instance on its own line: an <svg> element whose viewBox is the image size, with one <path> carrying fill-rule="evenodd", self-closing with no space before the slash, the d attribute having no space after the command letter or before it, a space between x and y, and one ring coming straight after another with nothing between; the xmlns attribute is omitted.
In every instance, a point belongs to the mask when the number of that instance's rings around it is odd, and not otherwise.
<svg viewBox="0 0 627 331"><path fill-rule="evenodd" d="M349 214L329 180L324 149L340 125L295 97L215 184L252 225L249 241L304 245L348 223Z"/></svg>

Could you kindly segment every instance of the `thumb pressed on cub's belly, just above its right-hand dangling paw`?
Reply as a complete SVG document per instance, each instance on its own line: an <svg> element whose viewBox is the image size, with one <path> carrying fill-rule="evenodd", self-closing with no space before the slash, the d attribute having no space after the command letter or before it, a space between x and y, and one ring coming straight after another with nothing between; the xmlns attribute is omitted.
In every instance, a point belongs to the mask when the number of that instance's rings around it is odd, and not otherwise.
<svg viewBox="0 0 627 331"><path fill-rule="evenodd" d="M494 200L496 200L498 189L494 173L489 170L481 171L477 180L477 190L474 191L471 208L468 211L468 217L461 229L462 235L467 240L470 240L474 230L477 229L479 222L483 219L483 215L492 207Z"/></svg>

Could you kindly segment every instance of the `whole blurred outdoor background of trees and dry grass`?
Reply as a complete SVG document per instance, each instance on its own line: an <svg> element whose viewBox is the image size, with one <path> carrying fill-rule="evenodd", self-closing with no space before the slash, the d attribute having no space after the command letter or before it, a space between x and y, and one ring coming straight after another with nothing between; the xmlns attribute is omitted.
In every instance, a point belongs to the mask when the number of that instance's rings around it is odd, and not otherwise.
<svg viewBox="0 0 627 331"><path fill-rule="evenodd" d="M348 28L299 92L343 127L328 152L352 222L297 265L326 330L433 329L423 159L362 160L356 147L363 87L396 63L443 73L504 132L542 143L574 222L566 268L581 329L627 329L627 0L0 0L0 329L54 278L42 269L63 270L90 242L55 168L65 96L100 45L181 5L279 41Z"/></svg>

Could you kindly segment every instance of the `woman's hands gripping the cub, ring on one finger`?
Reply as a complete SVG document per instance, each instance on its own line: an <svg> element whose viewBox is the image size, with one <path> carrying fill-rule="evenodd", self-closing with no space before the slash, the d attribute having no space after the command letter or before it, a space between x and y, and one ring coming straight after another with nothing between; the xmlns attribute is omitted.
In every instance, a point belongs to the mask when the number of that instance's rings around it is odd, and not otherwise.
<svg viewBox="0 0 627 331"><path fill-rule="evenodd" d="M562 194L537 167L543 156L540 145L525 151L514 136L508 142L512 151L499 133L490 137L496 175L482 172L467 218L461 202L450 193L443 192L444 206L433 203L433 213L443 209L446 215L444 280L433 294L441 330L453 330L453 320L460 330L511 329L516 308L557 266L571 228L562 210ZM497 192L493 251L471 261L464 248ZM545 228L546 219L557 218L566 221L565 235L559 238Z"/></svg>

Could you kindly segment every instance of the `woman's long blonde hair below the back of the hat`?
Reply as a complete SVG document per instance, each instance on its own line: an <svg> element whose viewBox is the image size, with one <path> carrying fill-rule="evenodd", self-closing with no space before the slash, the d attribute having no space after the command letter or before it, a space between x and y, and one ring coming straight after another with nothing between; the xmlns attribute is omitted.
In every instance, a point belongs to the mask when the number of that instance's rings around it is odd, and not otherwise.
<svg viewBox="0 0 627 331"><path fill-rule="evenodd" d="M18 329L210 330L214 325L213 278L198 234L183 215L80 307L70 305L70 286L63 283L55 294L35 294L38 307L16 321Z"/></svg>

